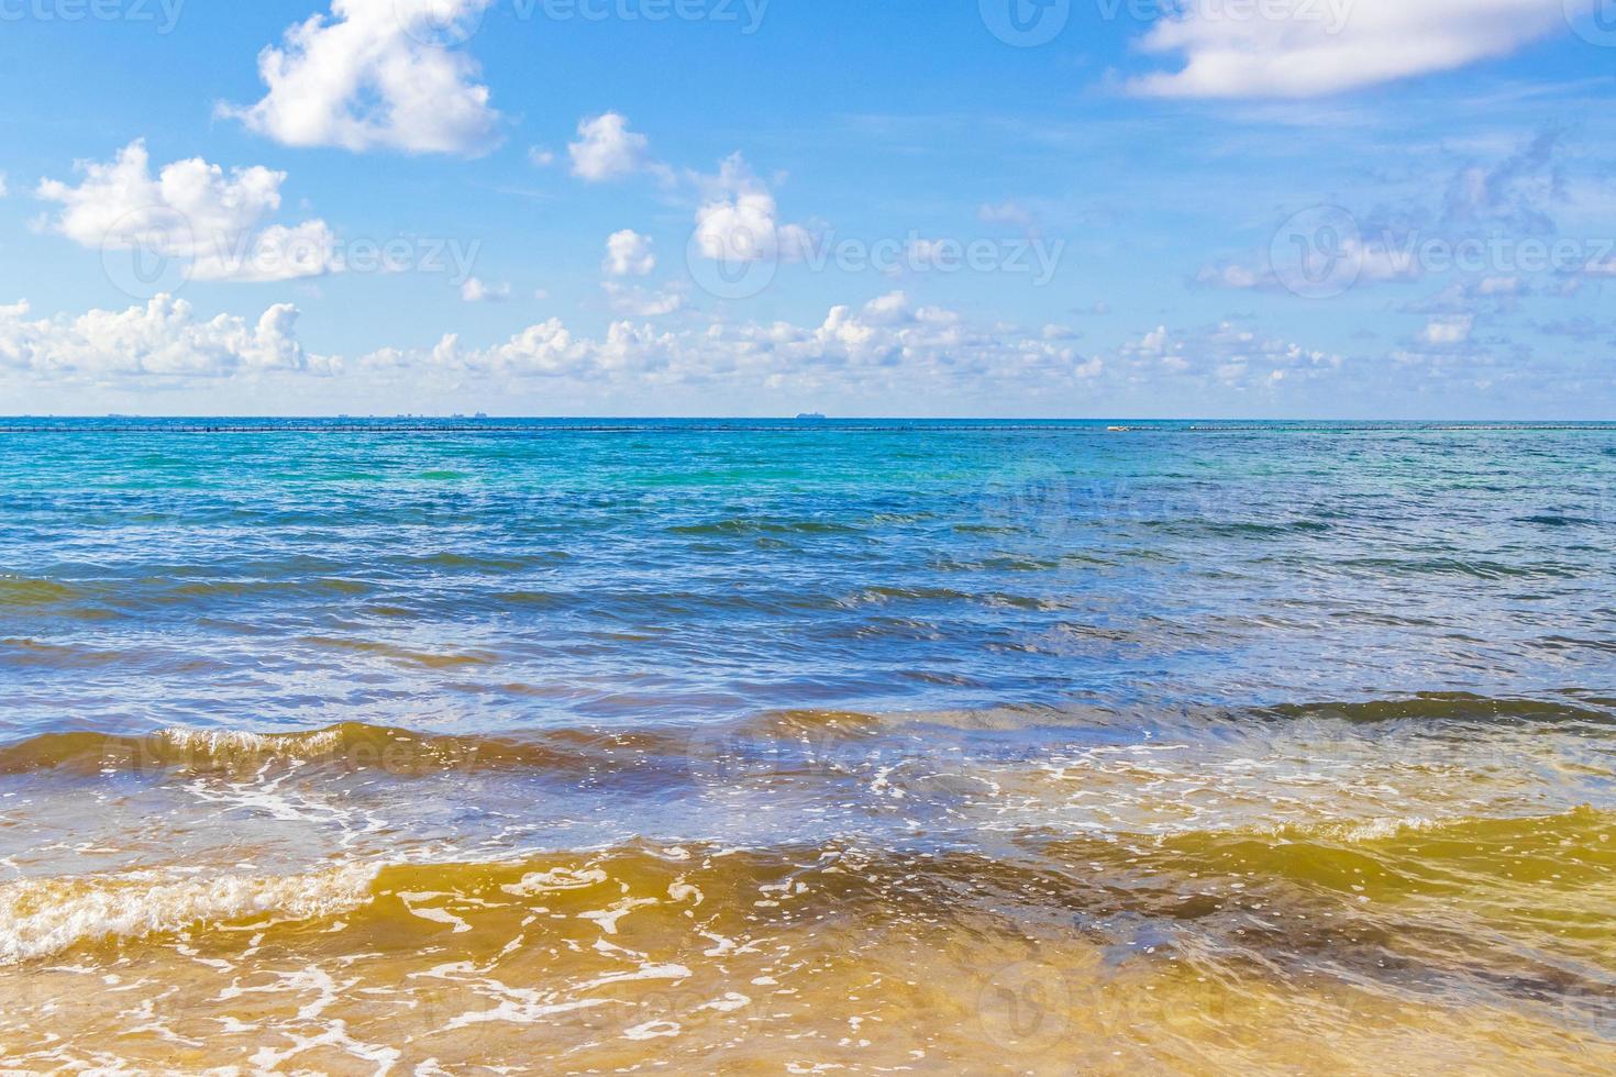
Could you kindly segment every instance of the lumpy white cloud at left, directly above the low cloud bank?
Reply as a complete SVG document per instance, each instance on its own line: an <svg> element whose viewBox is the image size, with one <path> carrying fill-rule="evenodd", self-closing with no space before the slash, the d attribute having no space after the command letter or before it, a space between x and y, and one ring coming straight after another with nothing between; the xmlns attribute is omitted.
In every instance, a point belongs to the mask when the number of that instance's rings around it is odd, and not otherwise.
<svg viewBox="0 0 1616 1077"><path fill-rule="evenodd" d="M78 186L45 179L37 197L61 203L50 228L82 247L145 247L184 260L199 281L288 281L338 270L325 221L268 224L286 173L262 166L228 174L200 157L165 165L131 142L107 163L81 161Z"/></svg>

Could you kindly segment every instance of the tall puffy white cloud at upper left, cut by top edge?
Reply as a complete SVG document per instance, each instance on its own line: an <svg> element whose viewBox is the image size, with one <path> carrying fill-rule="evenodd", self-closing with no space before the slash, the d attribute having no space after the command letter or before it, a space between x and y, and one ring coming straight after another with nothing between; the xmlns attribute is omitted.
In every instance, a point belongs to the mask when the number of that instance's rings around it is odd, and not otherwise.
<svg viewBox="0 0 1616 1077"><path fill-rule="evenodd" d="M494 140L499 115L477 63L443 47L493 0L331 0L259 53L268 94L220 105L225 116L286 145L354 152L475 153Z"/></svg>

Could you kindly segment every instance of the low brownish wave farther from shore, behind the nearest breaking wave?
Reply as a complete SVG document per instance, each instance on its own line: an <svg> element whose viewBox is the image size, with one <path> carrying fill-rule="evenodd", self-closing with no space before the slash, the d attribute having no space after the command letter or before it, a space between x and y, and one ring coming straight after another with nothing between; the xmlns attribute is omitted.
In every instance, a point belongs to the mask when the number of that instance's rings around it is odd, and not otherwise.
<svg viewBox="0 0 1616 1077"><path fill-rule="evenodd" d="M475 656L462 656L475 662ZM452 665L452 664L451 664ZM538 694L538 693L535 693ZM1215 704L1067 704L1002 706L957 710L860 712L845 709L763 710L740 720L640 727L569 725L522 733L423 733L347 722L320 730L260 733L171 727L141 735L115 731L45 733L0 746L0 773L66 770L74 773L171 769L184 772L252 772L263 764L299 764L331 772L378 769L412 777L469 770L532 770L567 775L611 775L656 770L674 780L695 769L706 773L732 754L751 777L768 777L779 759L800 770L802 754L858 762L881 754L889 762L958 754L1004 764L1037 764L1052 746L1115 743L1117 738L1164 738L1185 744L1218 744L1254 738L1283 748L1309 728L1395 727L1388 752L1424 751L1425 741L1393 736L1462 736L1471 728L1535 725L1601 736L1616 723L1616 701L1580 694L1571 699L1508 699L1432 693L1404 699L1304 702L1260 707ZM1377 736L1372 730L1366 736ZM1065 738L1065 740L1062 740ZM1278 738L1278 740L1275 740ZM1401 748L1399 748L1401 744ZM1298 744L1298 749L1306 744ZM1477 751L1485 748L1479 744ZM1446 749L1445 749L1446 751ZM1189 761L1193 762L1193 759Z"/></svg>

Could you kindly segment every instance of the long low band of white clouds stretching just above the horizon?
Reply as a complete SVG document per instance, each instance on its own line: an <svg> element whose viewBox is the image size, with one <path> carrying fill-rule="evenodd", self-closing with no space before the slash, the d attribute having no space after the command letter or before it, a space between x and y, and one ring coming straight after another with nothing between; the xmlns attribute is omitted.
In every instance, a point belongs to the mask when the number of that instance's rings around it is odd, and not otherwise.
<svg viewBox="0 0 1616 1077"><path fill-rule="evenodd" d="M978 326L955 310L916 304L902 291L863 305L835 305L806 323L711 320L659 328L645 321L650 316L654 313L630 313L598 336L548 318L488 347L448 334L428 349L383 347L341 363L305 352L294 331L297 310L289 305L270 307L257 321L233 315L204 321L168 295L78 318L32 318L27 305L18 304L0 307L0 373L171 384L263 373L364 376L370 370L410 371L423 384L435 376L456 384L533 378L608 392L755 384L913 394L918 386L939 392L1005 384L1054 392L1149 389L1164 378L1246 391L1327 376L1341 367L1336 355L1231 323L1188 334L1157 326L1113 352L1083 354L1063 326Z"/></svg>

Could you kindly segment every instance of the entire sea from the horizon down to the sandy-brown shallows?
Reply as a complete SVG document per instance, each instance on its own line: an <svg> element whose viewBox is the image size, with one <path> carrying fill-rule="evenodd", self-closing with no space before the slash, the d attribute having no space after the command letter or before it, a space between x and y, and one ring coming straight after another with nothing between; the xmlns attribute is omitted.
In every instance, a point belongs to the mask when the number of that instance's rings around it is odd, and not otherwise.
<svg viewBox="0 0 1616 1077"><path fill-rule="evenodd" d="M1608 1072L1616 428L0 433L0 1067Z"/></svg>

